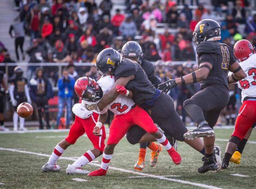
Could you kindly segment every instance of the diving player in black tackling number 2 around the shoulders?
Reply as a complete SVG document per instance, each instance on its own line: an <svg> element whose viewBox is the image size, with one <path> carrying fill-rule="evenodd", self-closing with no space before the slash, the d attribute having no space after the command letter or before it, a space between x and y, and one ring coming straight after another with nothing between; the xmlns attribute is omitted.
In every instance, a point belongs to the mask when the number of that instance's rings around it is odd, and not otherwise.
<svg viewBox="0 0 256 189"><path fill-rule="evenodd" d="M172 98L169 95L160 94L160 91L148 80L146 73L137 62L122 58L116 50L107 48L97 56L96 65L102 75L114 75L116 82L98 104L86 106L87 110L102 110L119 95L116 87L125 86L128 89L128 96L148 112L152 120L166 135L172 136L178 141L185 141L200 153L205 154L204 145L200 139L193 141L184 139L183 135L188 130L176 112ZM138 119L140 118L138 117ZM127 140L131 144L155 141L145 130L134 130L127 135L129 135Z"/></svg>

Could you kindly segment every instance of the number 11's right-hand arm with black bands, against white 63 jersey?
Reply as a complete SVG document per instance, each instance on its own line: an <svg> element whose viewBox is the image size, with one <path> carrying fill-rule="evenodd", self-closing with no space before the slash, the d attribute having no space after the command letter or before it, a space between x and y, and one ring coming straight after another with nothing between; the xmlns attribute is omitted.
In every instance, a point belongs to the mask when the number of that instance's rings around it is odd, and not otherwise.
<svg viewBox="0 0 256 189"><path fill-rule="evenodd" d="M230 72L233 72L231 75L229 75L228 83L236 83L241 79L244 79L246 77L246 74L244 70L241 68L238 62L235 62L231 66L229 66L228 70Z"/></svg>

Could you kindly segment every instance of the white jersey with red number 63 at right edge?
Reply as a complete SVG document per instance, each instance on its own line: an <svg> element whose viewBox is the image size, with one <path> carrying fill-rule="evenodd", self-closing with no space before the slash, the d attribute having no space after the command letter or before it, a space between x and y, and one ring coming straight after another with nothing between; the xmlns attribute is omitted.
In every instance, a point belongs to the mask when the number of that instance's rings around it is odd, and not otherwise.
<svg viewBox="0 0 256 189"><path fill-rule="evenodd" d="M246 78L239 80L237 85L242 90L242 102L245 97L256 97L256 54L240 63ZM229 75L232 73L229 72Z"/></svg>

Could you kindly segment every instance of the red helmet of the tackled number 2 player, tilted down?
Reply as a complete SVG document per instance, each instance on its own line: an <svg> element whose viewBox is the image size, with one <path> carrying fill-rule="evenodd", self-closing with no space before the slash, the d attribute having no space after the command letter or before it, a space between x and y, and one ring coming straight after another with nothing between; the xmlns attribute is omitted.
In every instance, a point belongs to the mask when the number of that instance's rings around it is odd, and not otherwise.
<svg viewBox="0 0 256 189"><path fill-rule="evenodd" d="M95 80L86 77L80 77L75 83L75 92L79 98L89 102L96 102L101 98L101 89Z"/></svg>

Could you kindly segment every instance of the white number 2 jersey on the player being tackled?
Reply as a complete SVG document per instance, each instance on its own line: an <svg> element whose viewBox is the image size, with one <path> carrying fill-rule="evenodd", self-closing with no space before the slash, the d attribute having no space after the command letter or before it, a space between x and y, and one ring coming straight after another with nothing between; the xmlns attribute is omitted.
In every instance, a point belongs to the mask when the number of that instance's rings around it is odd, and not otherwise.
<svg viewBox="0 0 256 189"><path fill-rule="evenodd" d="M110 89L115 84L115 78L113 76L105 76L105 77L100 78L97 81L97 83L101 87L101 89L103 91L103 96L104 96L108 91L110 91ZM88 102L88 101L83 100L82 104L83 105L98 104L99 102L100 102L100 100L98 100L97 102ZM102 111L97 112L96 110L94 110L94 112L104 114L107 112L107 110L110 110L115 115L120 115L120 114L125 114L125 113L129 112L132 109L133 105L135 105L135 103L131 98L129 98L125 95L119 94L118 97L113 102L111 102L109 105L107 105Z"/></svg>

